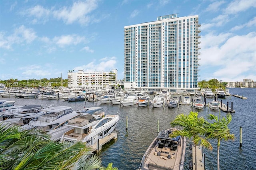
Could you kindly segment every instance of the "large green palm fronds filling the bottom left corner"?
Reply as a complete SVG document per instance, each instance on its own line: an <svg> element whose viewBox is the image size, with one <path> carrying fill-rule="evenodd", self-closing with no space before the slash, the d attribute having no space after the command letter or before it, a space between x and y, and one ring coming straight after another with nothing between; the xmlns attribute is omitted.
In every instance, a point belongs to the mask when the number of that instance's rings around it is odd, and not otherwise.
<svg viewBox="0 0 256 170"><path fill-rule="evenodd" d="M0 169L3 170L69 170L88 149L81 142L69 146L52 142L48 135L35 129L20 132L17 127L0 125Z"/></svg>

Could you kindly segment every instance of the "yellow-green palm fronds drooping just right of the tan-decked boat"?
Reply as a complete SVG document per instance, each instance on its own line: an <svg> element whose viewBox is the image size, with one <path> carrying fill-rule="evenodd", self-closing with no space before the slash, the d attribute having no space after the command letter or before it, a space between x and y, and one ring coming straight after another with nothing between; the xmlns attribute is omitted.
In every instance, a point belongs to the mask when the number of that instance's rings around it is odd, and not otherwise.
<svg viewBox="0 0 256 170"><path fill-rule="evenodd" d="M200 143L201 146L204 146L208 148L209 150L212 150L212 145L206 138L204 138L204 133L206 129L204 128L204 123L206 121L203 117L198 118L197 112L190 112L189 115L184 115L183 113L180 115L177 115L174 121L172 121L170 124L171 126L181 126L182 130L174 131L170 137L176 137L178 135L186 136L188 138L193 137L193 142L195 145Z"/></svg>

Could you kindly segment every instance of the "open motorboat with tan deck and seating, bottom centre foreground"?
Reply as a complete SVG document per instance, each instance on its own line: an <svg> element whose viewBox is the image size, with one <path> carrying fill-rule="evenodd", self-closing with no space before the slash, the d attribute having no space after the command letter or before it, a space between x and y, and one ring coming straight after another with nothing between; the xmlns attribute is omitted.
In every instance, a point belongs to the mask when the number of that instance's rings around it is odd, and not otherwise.
<svg viewBox="0 0 256 170"><path fill-rule="evenodd" d="M139 170L183 170L186 138L169 138L175 130L178 129L162 130L156 136L142 157Z"/></svg>

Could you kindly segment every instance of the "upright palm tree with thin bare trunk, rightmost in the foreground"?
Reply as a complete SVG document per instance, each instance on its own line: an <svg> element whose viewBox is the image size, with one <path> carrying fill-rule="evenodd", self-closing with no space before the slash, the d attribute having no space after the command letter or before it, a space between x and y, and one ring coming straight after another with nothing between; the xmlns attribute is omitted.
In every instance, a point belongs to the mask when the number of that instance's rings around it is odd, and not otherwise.
<svg viewBox="0 0 256 170"><path fill-rule="evenodd" d="M208 115L209 120L213 120L213 123L206 123L206 133L205 136L208 139L217 139L217 169L220 170L220 141L221 140L234 140L235 135L230 134L230 129L228 128L228 124L231 122L232 117L228 114L222 119L218 120L218 116L214 116L212 114Z"/></svg>

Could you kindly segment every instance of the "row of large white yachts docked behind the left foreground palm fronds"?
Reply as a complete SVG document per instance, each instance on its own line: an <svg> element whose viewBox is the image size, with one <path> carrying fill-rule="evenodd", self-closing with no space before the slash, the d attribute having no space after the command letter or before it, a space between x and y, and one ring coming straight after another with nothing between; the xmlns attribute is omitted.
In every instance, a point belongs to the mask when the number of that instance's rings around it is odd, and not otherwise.
<svg viewBox="0 0 256 170"><path fill-rule="evenodd" d="M18 106L0 112L0 126L17 126L19 130L36 128L50 134L51 140L86 142L87 146L112 133L119 115L105 114L101 107L73 111L68 106Z"/></svg>

